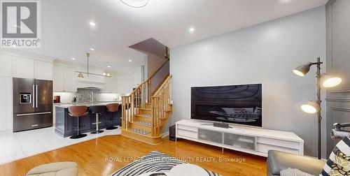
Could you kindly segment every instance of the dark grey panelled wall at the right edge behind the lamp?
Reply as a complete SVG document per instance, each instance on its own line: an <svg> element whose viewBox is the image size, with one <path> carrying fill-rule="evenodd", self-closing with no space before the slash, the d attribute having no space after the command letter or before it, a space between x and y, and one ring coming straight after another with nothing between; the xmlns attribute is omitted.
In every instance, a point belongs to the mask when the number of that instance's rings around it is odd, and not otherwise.
<svg viewBox="0 0 350 176"><path fill-rule="evenodd" d="M350 1L331 0L326 5L327 70L342 77L342 85L327 91L327 131L334 123L350 122ZM349 130L350 128L348 128ZM327 154L339 140L327 135Z"/></svg>

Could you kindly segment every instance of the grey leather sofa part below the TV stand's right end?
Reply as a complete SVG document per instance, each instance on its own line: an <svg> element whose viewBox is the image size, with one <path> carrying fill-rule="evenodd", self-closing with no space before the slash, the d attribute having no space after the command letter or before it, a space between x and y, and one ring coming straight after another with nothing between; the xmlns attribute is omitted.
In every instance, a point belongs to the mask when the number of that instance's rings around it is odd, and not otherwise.
<svg viewBox="0 0 350 176"><path fill-rule="evenodd" d="M280 175L281 170L286 168L297 168L304 173L319 175L325 165L324 160L279 152L276 150L269 150L267 162L269 172L273 175Z"/></svg>

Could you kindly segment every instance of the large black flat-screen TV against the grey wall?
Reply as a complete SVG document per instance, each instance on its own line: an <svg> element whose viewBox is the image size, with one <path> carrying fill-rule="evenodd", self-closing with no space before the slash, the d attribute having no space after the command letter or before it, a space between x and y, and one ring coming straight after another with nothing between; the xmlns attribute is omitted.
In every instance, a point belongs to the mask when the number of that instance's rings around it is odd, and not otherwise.
<svg viewBox="0 0 350 176"><path fill-rule="evenodd" d="M262 85L192 87L191 119L262 126Z"/></svg>

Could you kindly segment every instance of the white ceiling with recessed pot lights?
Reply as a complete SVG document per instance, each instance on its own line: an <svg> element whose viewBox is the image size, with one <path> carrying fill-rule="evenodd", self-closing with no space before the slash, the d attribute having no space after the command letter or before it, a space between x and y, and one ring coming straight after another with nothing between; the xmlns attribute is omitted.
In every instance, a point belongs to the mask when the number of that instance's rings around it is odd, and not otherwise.
<svg viewBox="0 0 350 176"><path fill-rule="evenodd" d="M322 6L327 0L150 0L131 8L120 0L45 0L41 48L30 52L127 71L144 54L128 46L148 38L176 47ZM91 27L89 22L96 23ZM190 33L188 29L194 27ZM90 51L90 47L95 50ZM132 62L129 61L132 59Z"/></svg>

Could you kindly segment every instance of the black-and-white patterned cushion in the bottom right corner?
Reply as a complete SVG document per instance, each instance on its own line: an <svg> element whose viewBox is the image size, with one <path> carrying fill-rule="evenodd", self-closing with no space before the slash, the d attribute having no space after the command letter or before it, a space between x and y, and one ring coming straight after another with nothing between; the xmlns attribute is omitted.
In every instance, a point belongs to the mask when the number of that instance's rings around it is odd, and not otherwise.
<svg viewBox="0 0 350 176"><path fill-rule="evenodd" d="M350 175L350 140L344 137L335 145L321 175Z"/></svg>

